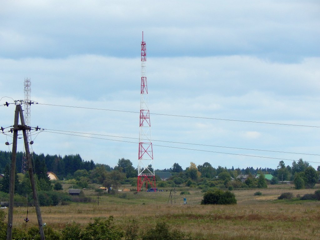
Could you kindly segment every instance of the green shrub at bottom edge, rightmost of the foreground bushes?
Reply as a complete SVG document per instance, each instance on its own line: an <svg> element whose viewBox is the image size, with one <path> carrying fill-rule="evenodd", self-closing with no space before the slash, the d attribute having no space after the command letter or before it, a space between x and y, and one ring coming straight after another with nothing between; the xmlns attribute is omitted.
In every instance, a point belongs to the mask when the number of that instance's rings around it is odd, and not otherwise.
<svg viewBox="0 0 320 240"><path fill-rule="evenodd" d="M185 233L177 230L170 229L169 224L166 222L158 222L154 228L150 228L141 233L142 240L187 240L190 239Z"/></svg>

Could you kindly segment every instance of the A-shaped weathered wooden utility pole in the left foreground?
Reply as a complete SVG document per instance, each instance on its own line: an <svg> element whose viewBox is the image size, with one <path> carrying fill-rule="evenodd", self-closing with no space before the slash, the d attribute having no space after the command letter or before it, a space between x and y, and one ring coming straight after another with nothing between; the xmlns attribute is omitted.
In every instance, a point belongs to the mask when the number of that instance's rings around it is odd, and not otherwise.
<svg viewBox="0 0 320 240"><path fill-rule="evenodd" d="M18 120L19 120L18 113L20 113L21 125L18 125ZM23 112L22 112L22 108L21 108L20 104L16 106L14 123L15 123L15 125L13 126L13 129L12 129L13 130L12 168L13 168L13 162L14 162L14 171L15 171L18 131L22 131L23 139L24 139L24 146L25 146L25 149L26 149L28 172L29 172L29 176L30 176L32 195L33 195L33 200L35 201L36 214L37 214L37 219L38 219L40 239L41 240L45 240L42 217L41 217L41 210L40 210L39 200L38 200L38 197L37 197L38 194L37 194L37 190L36 190L36 182L35 182L35 177L34 177L34 174L33 174L31 157L30 157L30 152L29 152L29 143L28 143L28 137L27 137L27 132L26 132L27 130L30 131L31 128L29 126L25 125ZM14 145L14 143L15 143L15 145ZM15 147L15 149L14 149L14 147ZM13 156L14 156L14 159L13 159ZM11 170L11 172L12 171L13 170ZM11 179L10 179L11 180L11 182L10 182L10 196L11 196L11 192L13 192L13 195L14 195L14 176L15 176L15 172L13 172L13 175L11 175ZM13 179L13 191L12 191L12 186L11 186L12 179ZM9 220L9 218L8 218L7 240L11 240L12 239L13 196L12 196L12 199L10 198L10 205L9 206L12 207L12 208L11 208L11 210L9 208L9 212L11 214L10 215L11 220Z"/></svg>

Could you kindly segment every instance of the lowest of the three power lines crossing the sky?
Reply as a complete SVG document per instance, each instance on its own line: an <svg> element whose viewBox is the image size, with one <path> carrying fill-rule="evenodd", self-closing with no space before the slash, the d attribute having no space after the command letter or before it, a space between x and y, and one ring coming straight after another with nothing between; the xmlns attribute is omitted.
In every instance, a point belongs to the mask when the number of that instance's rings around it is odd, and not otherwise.
<svg viewBox="0 0 320 240"><path fill-rule="evenodd" d="M44 130L44 132L51 132L51 131L46 131L46 130ZM78 136L78 137L86 137L86 138L94 138L94 139L111 140L111 141L118 141L118 142L127 142L127 143L135 143L135 144L138 144L138 142L123 141L123 140L114 140L114 139L106 139L106 138L98 138L98 137L90 137L90 136L76 135L76 134L63 133L63 132L51 132L51 133L58 133L58 134L64 134L64 135L70 135L70 136ZM153 146L165 147L165 148L184 149L184 150L193 150L193 151L201 151L201 152L210 152L210 153L220 153L220 154L228 154L228 155L236 155L236 156L248 156L248 157L259 157L259 158L268 158L268 159L295 161L295 160L293 160L293 159L286 159L286 158L266 157L266 156L254 156L254 155L245 155L245 154L236 154L236 153L225 153L225 152L216 152L216 151L193 149L193 148L179 148L179 147L171 147L171 146L163 146L163 145L155 145L155 144L153 144ZM320 162L312 162L312 161L307 161L307 162L309 162L309 163L320 163Z"/></svg>

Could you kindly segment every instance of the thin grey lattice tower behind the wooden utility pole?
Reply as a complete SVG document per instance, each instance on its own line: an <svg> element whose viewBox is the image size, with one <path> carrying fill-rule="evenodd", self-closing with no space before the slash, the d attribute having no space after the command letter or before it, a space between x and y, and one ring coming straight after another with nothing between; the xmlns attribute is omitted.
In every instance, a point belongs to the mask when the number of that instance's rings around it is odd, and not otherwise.
<svg viewBox="0 0 320 240"><path fill-rule="evenodd" d="M30 100L30 94L31 94L31 81L30 78L25 78L24 79L24 119L25 119L25 124L27 126L30 126L30 106L31 106L31 100ZM27 131L27 137L28 137L28 142L31 142L31 135L30 132ZM30 154L32 155L32 146L29 146L30 148ZM28 164L27 164L27 156L26 156L26 151L25 147L23 147L23 155L22 155L22 168L21 172L26 173L28 171Z"/></svg>

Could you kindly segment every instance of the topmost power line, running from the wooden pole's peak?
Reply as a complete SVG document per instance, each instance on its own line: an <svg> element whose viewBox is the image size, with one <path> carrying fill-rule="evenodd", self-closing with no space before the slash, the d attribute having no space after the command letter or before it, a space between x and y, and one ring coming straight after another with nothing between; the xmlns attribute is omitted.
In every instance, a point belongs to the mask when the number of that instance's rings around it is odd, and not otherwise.
<svg viewBox="0 0 320 240"><path fill-rule="evenodd" d="M39 104L39 105L47 105L47 106L56 106L56 107L66 107L66 108L82 108L82 109L104 110L104 111L114 111L114 112L124 112L124 113L140 113L140 112L135 112L135 111L113 110L113 109L106 109L106 108L86 108L86 107L76 107L76 106L66 106L66 105L45 104L45 103L38 103L38 104ZM320 126L299 125L299 124L284 124L284 123L270 123L270 122L258 122L258 121L245 121L245 120L235 120L235 119L226 119L226 118L213 118L213 117L172 115L172 114L162 114L162 113L150 113L150 114L159 115L159 116L188 117L188 118L199 118L199 119L221 120L221 121L233 121L233 122L243 122L243 123L260 123L260 124L274 124L274 125L285 125L285 126L315 127L315 128L320 128Z"/></svg>

